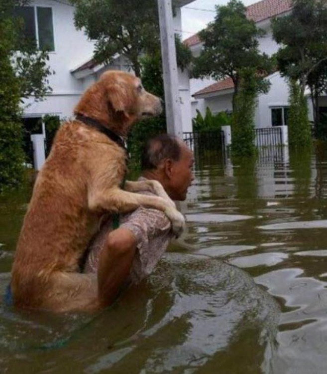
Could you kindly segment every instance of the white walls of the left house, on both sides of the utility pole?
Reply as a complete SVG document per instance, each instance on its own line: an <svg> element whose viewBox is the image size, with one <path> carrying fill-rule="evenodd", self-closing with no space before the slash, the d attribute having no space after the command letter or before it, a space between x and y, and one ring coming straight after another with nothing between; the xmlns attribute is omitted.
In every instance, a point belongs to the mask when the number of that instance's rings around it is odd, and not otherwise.
<svg viewBox="0 0 327 374"><path fill-rule="evenodd" d="M25 101L24 116L39 117L44 114L55 114L61 118L70 118L81 94L94 83L105 70L119 69L130 71L127 62L117 58L113 65L103 67L83 78L77 78L71 71L89 61L94 53L94 42L88 40L81 30L74 26L74 7L54 0L34 0L31 6L52 8L55 51L49 54L49 65L55 74L48 77L52 92L41 102L34 97ZM176 8L173 28L181 33L181 10ZM210 83L208 83L210 84ZM186 71L179 71L179 91L182 106L183 130L192 129L192 109L190 102L190 82ZM207 83L200 86L205 87Z"/></svg>

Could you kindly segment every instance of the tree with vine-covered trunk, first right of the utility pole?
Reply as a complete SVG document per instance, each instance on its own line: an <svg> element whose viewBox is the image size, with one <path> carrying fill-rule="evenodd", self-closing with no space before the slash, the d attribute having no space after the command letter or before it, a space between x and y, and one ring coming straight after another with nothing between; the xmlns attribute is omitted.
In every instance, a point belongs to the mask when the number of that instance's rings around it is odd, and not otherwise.
<svg viewBox="0 0 327 374"><path fill-rule="evenodd" d="M197 78L231 78L234 84L231 148L235 156L248 156L255 153L256 97L268 92L270 82L265 76L271 72L272 63L258 49L258 38L264 31L246 18L241 1L231 0L216 9L215 21L199 33L204 48L195 59L192 74Z"/></svg>

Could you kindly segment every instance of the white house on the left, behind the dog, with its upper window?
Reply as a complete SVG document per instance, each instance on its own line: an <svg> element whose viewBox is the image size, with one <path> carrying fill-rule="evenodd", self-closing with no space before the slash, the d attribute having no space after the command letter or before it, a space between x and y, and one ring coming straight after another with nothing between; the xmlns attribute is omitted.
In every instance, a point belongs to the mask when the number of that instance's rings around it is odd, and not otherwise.
<svg viewBox="0 0 327 374"><path fill-rule="evenodd" d="M180 7L192 0L176 0L174 29L181 30ZM116 56L112 65L96 64L93 60L95 43L74 26L74 7L67 0L34 0L20 8L25 19L26 32L35 35L39 47L50 46L49 66L55 74L49 76L52 92L43 101L30 97L24 103L24 121L36 123L42 116L69 118L84 90L108 69L129 70L126 60ZM187 72L180 72L180 96L185 123L191 126L191 109ZM44 129L43 129L44 133Z"/></svg>

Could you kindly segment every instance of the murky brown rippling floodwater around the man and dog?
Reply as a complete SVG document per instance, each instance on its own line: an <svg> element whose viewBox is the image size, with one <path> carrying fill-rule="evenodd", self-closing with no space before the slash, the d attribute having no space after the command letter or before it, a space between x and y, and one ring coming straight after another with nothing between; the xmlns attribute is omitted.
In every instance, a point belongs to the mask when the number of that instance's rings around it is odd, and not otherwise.
<svg viewBox="0 0 327 374"><path fill-rule="evenodd" d="M327 153L197 160L183 237L95 315L0 304L1 373L327 373ZM0 198L0 293L27 188Z"/></svg>

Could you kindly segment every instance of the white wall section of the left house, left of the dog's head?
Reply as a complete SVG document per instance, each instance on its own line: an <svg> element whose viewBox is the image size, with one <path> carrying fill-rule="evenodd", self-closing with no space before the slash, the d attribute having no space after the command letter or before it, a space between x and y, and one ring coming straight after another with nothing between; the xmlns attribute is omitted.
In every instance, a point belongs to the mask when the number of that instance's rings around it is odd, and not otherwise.
<svg viewBox="0 0 327 374"><path fill-rule="evenodd" d="M85 89L83 80L74 78L70 71L92 57L94 43L75 29L73 6L53 0L32 1L30 5L52 8L55 51L49 53L49 65L55 74L48 77L52 93L42 102L35 103L33 97L27 100L24 115L57 113L69 117Z"/></svg>

